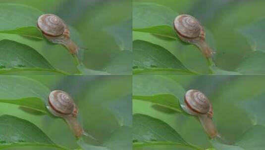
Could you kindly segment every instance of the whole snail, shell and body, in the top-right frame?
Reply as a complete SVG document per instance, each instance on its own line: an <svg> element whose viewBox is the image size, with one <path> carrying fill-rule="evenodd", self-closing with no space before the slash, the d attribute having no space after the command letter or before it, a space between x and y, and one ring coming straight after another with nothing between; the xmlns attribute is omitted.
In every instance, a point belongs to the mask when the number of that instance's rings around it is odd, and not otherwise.
<svg viewBox="0 0 265 150"><path fill-rule="evenodd" d="M195 44L207 58L212 57L212 48L206 43L204 28L196 18L179 15L174 20L174 29L181 40Z"/></svg>

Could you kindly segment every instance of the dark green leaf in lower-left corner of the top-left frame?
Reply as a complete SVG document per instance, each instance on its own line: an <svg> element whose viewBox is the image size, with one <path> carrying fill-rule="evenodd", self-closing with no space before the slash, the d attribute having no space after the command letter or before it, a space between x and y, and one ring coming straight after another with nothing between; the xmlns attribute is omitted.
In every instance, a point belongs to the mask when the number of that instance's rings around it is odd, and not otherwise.
<svg viewBox="0 0 265 150"><path fill-rule="evenodd" d="M53 68L35 49L12 40L0 41L0 53L0 73L25 70L65 74Z"/></svg>

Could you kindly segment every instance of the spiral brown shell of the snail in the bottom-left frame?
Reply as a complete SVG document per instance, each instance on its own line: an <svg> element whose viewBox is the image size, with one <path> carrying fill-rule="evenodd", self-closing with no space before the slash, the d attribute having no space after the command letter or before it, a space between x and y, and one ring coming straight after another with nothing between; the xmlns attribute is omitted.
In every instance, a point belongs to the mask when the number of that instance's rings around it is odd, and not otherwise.
<svg viewBox="0 0 265 150"><path fill-rule="evenodd" d="M49 104L55 112L61 114L71 114L76 110L74 101L70 95L59 90L50 93Z"/></svg>

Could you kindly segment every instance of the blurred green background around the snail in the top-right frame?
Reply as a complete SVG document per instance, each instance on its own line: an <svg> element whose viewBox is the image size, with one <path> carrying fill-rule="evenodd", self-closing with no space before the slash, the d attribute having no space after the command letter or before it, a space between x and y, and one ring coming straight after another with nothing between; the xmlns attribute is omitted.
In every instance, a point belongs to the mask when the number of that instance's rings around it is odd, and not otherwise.
<svg viewBox="0 0 265 150"><path fill-rule="evenodd" d="M239 31L264 18L264 0L133 0L153 2L171 8L179 14L189 14L200 20L214 38L214 61L223 70L234 71L253 50ZM147 40L168 49L188 68L209 73L207 62L193 45L179 46L175 40L164 40L147 33L133 32L133 39ZM191 61L192 60L192 61Z"/></svg>

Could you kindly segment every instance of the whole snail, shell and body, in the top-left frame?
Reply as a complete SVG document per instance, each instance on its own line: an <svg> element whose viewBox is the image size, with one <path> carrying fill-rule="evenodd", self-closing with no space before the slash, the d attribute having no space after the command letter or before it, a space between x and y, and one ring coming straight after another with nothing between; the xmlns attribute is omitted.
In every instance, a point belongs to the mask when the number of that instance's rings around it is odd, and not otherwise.
<svg viewBox="0 0 265 150"><path fill-rule="evenodd" d="M79 47L71 40L69 28L60 17L43 14L38 18L37 26L49 41L63 44L71 54L78 53Z"/></svg>

